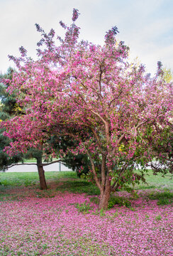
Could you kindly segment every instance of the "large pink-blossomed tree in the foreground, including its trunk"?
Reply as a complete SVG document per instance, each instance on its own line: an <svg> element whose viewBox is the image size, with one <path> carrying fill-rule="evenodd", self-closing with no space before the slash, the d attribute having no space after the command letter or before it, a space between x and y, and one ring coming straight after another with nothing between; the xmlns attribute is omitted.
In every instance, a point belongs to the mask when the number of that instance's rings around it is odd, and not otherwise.
<svg viewBox="0 0 173 256"><path fill-rule="evenodd" d="M59 44L54 30L47 34L36 24L42 36L38 60L28 58L23 47L21 58L10 56L18 67L10 91L26 114L3 124L6 136L15 139L6 151L46 150L54 134L74 138L78 145L69 150L88 155L101 192L99 208L107 208L111 191L138 182L158 156L152 142L171 122L172 85L164 81L161 63L154 78L143 65L128 63L129 48L116 41L116 26L106 33L104 46L79 41L78 16L74 9L69 27L60 21L66 33L57 37ZM134 171L138 165L140 175Z"/></svg>

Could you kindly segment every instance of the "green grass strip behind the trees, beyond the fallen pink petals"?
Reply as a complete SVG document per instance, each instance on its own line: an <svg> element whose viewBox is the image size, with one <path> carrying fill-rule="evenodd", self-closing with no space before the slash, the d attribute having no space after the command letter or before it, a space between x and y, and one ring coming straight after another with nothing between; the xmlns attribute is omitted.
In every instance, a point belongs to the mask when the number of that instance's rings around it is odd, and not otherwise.
<svg viewBox="0 0 173 256"><path fill-rule="evenodd" d="M70 191L78 193L88 194L99 194L98 188L92 183L81 180L77 177L77 174L73 171L61 171L61 172L45 172L46 180L48 185L51 187L51 183L58 185L57 190ZM0 173L0 191L5 188L15 186L32 186L38 188L38 173ZM146 188L167 188L172 189L172 179L170 176L162 177L161 174L154 176L152 171L146 174L147 184L140 183L135 186L135 189L146 189Z"/></svg>

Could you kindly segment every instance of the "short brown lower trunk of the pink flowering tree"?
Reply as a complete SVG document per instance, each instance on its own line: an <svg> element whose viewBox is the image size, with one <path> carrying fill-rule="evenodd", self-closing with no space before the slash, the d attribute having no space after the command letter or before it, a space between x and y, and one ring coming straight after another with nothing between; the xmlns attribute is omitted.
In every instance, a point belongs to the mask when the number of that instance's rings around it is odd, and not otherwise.
<svg viewBox="0 0 173 256"><path fill-rule="evenodd" d="M108 208L108 200L111 196L111 181L109 181L109 177L106 177L106 184L104 188L101 190L101 198L99 202L99 210Z"/></svg>

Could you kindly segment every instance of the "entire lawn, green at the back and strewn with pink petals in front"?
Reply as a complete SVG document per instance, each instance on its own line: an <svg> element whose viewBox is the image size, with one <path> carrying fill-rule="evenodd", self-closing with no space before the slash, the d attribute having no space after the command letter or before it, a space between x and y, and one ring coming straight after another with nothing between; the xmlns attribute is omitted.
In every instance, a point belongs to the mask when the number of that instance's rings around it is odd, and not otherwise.
<svg viewBox="0 0 173 256"><path fill-rule="evenodd" d="M99 191L72 171L0 174L0 255L172 255L172 181L147 176L135 195ZM111 206L113 208L111 208Z"/></svg>

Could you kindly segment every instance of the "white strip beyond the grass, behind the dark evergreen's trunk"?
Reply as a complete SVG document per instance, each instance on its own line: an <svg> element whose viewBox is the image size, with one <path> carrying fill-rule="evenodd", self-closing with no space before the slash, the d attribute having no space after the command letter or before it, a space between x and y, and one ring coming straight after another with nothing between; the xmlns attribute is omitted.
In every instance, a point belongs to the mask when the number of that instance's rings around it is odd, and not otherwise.
<svg viewBox="0 0 173 256"><path fill-rule="evenodd" d="M66 166L64 166L64 164L60 164L60 163L43 166L43 168L45 171L72 171L71 169L68 169ZM38 169L35 164L32 164L32 165L23 164L20 166L13 166L9 169L6 169L6 171L7 172L34 172L34 171L38 171Z"/></svg>

